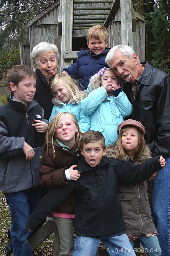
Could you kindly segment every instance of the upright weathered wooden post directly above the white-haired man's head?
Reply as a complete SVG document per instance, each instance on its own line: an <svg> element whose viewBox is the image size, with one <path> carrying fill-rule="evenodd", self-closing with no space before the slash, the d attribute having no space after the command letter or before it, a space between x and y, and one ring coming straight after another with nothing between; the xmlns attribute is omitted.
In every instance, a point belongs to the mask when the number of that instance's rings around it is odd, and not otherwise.
<svg viewBox="0 0 170 256"><path fill-rule="evenodd" d="M131 0L120 0L120 2L122 44L129 45L133 48Z"/></svg>

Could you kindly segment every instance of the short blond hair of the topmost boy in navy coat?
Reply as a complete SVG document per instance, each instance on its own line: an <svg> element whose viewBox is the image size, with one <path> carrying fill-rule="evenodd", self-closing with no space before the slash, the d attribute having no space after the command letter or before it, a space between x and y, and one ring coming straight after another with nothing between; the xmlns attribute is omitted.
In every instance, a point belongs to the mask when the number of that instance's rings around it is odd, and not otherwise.
<svg viewBox="0 0 170 256"><path fill-rule="evenodd" d="M108 41L108 33L106 28L103 25L96 25L89 28L87 32L87 42L89 43L90 39L101 40L104 39L105 43Z"/></svg>

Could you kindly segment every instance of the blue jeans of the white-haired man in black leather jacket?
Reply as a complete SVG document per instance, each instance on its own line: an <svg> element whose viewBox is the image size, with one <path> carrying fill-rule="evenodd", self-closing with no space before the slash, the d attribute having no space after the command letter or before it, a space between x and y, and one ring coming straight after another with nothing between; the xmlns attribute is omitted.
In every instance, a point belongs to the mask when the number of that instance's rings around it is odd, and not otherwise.
<svg viewBox="0 0 170 256"><path fill-rule="evenodd" d="M152 205L162 256L170 256L170 157L153 180Z"/></svg>

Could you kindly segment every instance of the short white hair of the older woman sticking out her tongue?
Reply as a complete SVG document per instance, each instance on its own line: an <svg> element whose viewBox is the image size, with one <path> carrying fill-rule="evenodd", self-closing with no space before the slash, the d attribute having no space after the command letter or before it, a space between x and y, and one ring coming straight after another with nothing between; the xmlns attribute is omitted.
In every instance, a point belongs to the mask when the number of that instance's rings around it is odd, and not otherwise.
<svg viewBox="0 0 170 256"><path fill-rule="evenodd" d="M59 52L58 52L58 48L55 44L49 44L47 42L41 42L33 48L33 51L31 52L31 63L32 63L32 68L33 68L34 72L37 69L36 64L37 64L38 56L40 54L43 54L43 53L46 54L47 52L50 52L50 51L54 52L55 57L58 61L60 55L59 55Z"/></svg>

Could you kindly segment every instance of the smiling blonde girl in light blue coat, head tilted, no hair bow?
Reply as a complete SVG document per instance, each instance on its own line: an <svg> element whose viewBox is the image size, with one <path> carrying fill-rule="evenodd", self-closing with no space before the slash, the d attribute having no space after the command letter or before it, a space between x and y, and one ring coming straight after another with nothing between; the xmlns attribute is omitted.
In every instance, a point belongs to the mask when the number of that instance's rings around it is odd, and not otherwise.
<svg viewBox="0 0 170 256"><path fill-rule="evenodd" d="M87 97L88 92L79 91L74 80L64 74L57 74L52 81L51 90L55 96L49 121L60 112L70 112L76 116L81 132L90 130L90 117L87 116L80 105L80 101Z"/></svg>

